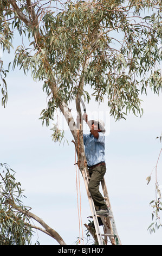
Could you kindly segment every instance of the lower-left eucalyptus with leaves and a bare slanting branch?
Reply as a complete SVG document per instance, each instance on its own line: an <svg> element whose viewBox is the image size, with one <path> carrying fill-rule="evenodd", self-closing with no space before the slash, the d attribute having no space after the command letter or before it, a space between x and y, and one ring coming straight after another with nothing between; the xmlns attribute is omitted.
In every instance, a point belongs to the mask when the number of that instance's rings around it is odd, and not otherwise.
<svg viewBox="0 0 162 256"><path fill-rule="evenodd" d="M31 245L35 229L66 245L57 231L24 206L21 183L16 181L15 172L8 164L0 163L0 176L0 245ZM40 226L33 224L33 220Z"/></svg>

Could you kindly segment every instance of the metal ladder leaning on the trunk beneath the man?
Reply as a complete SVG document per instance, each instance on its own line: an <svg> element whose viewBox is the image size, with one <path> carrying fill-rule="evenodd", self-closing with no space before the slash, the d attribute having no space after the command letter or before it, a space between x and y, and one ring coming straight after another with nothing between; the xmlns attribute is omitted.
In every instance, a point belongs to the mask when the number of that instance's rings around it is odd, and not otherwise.
<svg viewBox="0 0 162 256"><path fill-rule="evenodd" d="M105 202L108 206L109 215L107 215L107 216L106 215L104 215L104 216L103 215L96 215L95 205L94 205L92 197L90 196L90 192L88 190L88 183L89 183L89 179L90 179L89 173L88 173L88 171L85 167L82 168L81 172L82 172L83 180L84 180L85 186L86 186L86 191L87 191L87 196L88 196L88 200L89 200L90 210L92 212L94 227L95 227L96 236L97 236L97 240L98 240L99 245L106 245L107 244L107 237L109 237L109 240L111 241L112 245L121 245L121 241L119 239L119 236L118 236L118 233L117 233L117 230L116 230L116 225L115 225L115 221L114 221L112 208L111 208L111 205L109 203L109 197L108 197L107 187L106 187L106 183L105 183L105 178L103 177L103 179L101 180L101 186L102 186L103 196L105 198ZM102 223L103 223L103 231L104 231L103 234L100 231L98 217L101 218ZM102 236L104 236L104 239L103 239Z"/></svg>

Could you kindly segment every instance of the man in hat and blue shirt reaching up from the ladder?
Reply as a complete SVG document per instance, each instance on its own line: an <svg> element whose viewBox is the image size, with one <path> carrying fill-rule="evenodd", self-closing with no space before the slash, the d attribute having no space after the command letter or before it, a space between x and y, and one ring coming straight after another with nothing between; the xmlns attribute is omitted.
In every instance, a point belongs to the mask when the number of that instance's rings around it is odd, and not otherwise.
<svg viewBox="0 0 162 256"><path fill-rule="evenodd" d="M90 175L88 189L92 196L95 206L99 207L96 211L98 215L108 215L109 211L102 194L99 191L100 181L106 173L105 164L105 127L101 120L88 121L85 113L82 117L89 126L90 134L83 134L85 154Z"/></svg>

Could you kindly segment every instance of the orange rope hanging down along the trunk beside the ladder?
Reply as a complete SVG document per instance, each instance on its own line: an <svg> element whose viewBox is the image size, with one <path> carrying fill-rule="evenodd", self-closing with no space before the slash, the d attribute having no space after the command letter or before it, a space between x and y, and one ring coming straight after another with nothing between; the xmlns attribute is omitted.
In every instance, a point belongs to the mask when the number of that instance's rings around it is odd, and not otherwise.
<svg viewBox="0 0 162 256"><path fill-rule="evenodd" d="M82 228L82 217L81 217L81 192L80 192L80 167L79 167L79 130L77 130L77 152L78 152L78 178L79 178L79 193L80 193L80 212L79 212L79 197L78 197L78 188L77 188L77 168L76 168L76 193L77 193L77 211L79 217L79 243L81 243L81 230ZM76 148L75 148L75 167L76 167ZM81 222L81 223L80 223ZM83 240L83 228L82 228L82 240Z"/></svg>

